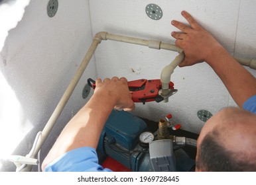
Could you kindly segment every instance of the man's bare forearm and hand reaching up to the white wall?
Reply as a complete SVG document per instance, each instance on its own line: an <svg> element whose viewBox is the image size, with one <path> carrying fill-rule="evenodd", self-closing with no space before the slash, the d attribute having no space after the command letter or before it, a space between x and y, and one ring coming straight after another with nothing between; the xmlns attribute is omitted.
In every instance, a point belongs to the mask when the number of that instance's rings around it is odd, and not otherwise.
<svg viewBox="0 0 256 185"><path fill-rule="evenodd" d="M256 94L256 79L241 66L221 44L186 11L182 16L190 26L172 20L172 25L182 32L172 32L176 46L182 48L185 58L180 67L206 61L222 79L238 106Z"/></svg>

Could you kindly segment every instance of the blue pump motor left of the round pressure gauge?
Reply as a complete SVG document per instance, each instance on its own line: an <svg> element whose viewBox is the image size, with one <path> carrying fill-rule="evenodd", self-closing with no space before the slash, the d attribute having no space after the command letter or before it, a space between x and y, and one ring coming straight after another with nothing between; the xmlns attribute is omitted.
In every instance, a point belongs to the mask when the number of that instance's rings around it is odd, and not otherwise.
<svg viewBox="0 0 256 185"><path fill-rule="evenodd" d="M129 112L113 110L99 137L97 151L105 157L109 156L119 161L133 172L154 171L149 147L139 143L139 135L145 131L148 131L147 124L141 118ZM184 158L182 152L179 152L178 157L175 153L175 156L178 161L183 161L182 163L184 161L191 163L191 159ZM194 162L192 161L192 163ZM182 168L178 165L179 162L177 164L179 171L186 171L186 169L182 169L184 165L181 166Z"/></svg>

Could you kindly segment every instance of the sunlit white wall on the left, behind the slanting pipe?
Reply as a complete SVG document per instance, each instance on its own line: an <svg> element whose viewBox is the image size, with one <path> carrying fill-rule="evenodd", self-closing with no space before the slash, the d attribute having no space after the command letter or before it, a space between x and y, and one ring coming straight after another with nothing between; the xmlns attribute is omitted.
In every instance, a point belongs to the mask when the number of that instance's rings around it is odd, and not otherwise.
<svg viewBox="0 0 256 185"><path fill-rule="evenodd" d="M52 18L46 13L47 3L31 0L1 50L0 170L15 170L4 160L8 155L29 153L92 43L88 1L59 1ZM88 77L96 78L94 59L46 139L42 159L66 122L86 103L82 89Z"/></svg>

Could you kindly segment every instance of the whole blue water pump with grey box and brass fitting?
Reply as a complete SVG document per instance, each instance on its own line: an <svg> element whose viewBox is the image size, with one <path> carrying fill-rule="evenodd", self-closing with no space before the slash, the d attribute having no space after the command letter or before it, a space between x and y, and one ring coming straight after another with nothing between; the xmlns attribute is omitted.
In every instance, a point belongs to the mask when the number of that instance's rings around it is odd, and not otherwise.
<svg viewBox="0 0 256 185"><path fill-rule="evenodd" d="M133 172L190 171L195 162L182 147L196 147L196 140L169 135L164 122L161 119L161 126L153 133L141 118L113 110L101 132L97 152Z"/></svg>

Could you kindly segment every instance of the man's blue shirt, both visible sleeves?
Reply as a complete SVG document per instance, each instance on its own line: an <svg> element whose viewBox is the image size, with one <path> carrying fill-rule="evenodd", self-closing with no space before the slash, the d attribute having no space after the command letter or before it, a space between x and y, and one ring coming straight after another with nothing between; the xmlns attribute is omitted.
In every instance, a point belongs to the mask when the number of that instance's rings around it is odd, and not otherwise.
<svg viewBox="0 0 256 185"><path fill-rule="evenodd" d="M256 95L251 96L243 109L256 114ZM64 153L45 168L46 172L111 172L98 164L96 149L81 147Z"/></svg>

